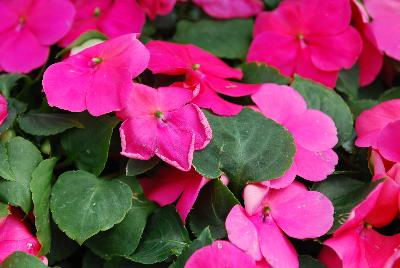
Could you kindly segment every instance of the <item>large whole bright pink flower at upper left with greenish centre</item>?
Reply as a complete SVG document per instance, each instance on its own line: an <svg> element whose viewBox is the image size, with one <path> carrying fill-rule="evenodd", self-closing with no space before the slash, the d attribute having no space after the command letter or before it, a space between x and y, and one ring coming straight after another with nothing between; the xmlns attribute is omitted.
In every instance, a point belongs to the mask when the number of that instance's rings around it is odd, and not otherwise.
<svg viewBox="0 0 400 268"><path fill-rule="evenodd" d="M89 47L51 65L43 75L50 106L94 116L123 108L132 79L144 71L149 53L136 34Z"/></svg>

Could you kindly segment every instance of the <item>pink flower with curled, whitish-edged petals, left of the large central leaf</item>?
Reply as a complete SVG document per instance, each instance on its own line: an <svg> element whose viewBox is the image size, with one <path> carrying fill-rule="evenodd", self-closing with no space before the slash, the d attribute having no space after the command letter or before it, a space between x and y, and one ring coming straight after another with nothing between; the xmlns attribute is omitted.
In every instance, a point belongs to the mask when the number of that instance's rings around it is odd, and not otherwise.
<svg viewBox="0 0 400 268"><path fill-rule="evenodd" d="M207 146L211 128L200 108L190 103L190 90L154 89L134 84L119 113L123 155L148 160L157 155L184 171L192 165L193 152Z"/></svg>

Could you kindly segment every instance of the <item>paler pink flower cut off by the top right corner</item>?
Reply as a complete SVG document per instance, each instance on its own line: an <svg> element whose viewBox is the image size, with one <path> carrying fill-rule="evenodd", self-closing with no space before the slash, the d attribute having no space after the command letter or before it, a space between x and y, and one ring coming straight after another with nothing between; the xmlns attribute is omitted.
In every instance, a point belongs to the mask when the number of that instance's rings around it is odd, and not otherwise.
<svg viewBox="0 0 400 268"><path fill-rule="evenodd" d="M388 56L400 60L400 2L398 0L365 0L372 17L372 30L378 47Z"/></svg>

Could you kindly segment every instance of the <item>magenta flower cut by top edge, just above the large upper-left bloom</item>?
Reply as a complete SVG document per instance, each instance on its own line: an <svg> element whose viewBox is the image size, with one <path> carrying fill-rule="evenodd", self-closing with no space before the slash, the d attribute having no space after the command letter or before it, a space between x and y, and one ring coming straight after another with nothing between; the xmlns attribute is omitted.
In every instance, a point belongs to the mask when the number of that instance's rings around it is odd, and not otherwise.
<svg viewBox="0 0 400 268"><path fill-rule="evenodd" d="M60 41L66 47L87 31L99 31L109 38L140 33L145 14L136 0L73 0L77 14L71 31Z"/></svg>

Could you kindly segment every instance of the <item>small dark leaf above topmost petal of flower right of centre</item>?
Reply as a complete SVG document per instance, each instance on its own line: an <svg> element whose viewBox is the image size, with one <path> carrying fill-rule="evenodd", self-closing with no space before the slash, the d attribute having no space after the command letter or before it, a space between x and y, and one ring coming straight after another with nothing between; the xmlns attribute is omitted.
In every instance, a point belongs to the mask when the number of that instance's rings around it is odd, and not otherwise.
<svg viewBox="0 0 400 268"><path fill-rule="evenodd" d="M263 63L252 62L242 65L243 82L249 84L275 83L287 85L291 79L282 75L278 69Z"/></svg>

